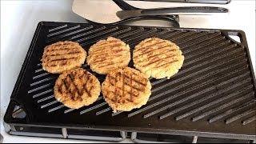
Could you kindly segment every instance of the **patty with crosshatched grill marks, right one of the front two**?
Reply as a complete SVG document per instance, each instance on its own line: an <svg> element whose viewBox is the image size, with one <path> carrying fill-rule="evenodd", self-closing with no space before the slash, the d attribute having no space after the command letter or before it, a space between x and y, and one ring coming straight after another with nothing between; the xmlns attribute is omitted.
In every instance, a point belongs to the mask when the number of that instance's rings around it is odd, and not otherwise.
<svg viewBox="0 0 256 144"><path fill-rule="evenodd" d="M103 97L114 111L130 111L145 105L150 89L146 75L130 67L111 71L102 83Z"/></svg>

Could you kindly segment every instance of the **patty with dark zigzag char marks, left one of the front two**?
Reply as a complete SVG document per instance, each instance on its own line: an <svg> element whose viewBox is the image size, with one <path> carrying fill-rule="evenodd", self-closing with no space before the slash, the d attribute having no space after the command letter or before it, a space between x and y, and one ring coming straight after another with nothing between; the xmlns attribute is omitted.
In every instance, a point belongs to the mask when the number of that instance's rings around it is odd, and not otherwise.
<svg viewBox="0 0 256 144"><path fill-rule="evenodd" d="M100 91L98 78L82 68L63 72L54 86L58 102L73 109L92 104L98 99Z"/></svg>

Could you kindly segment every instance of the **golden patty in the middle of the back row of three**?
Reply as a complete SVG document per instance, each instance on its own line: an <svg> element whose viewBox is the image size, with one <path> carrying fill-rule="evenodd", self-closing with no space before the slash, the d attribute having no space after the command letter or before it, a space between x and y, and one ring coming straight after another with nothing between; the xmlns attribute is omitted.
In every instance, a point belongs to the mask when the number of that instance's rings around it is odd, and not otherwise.
<svg viewBox="0 0 256 144"><path fill-rule="evenodd" d="M130 47L118 38L109 37L90 47L87 64L98 74L108 74L112 70L128 66Z"/></svg>

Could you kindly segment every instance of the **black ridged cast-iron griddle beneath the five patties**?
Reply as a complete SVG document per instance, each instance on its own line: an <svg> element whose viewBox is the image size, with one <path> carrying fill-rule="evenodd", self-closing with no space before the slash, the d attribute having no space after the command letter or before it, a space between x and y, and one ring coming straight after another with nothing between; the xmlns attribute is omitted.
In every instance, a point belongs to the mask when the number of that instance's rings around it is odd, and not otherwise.
<svg viewBox="0 0 256 144"><path fill-rule="evenodd" d="M241 43L229 35L237 35ZM175 42L185 61L170 79L150 79L146 106L113 113L102 95L91 106L72 110L54 98L58 74L42 70L43 48L54 42L79 42L85 50L113 36L134 46L145 38ZM133 67L133 62L130 62ZM82 65L86 70L90 67ZM93 73L93 72L92 72ZM95 73L93 73L95 74ZM100 82L105 76L95 74ZM8 126L38 126L179 134L211 138L254 139L256 133L255 78L246 35L242 30L203 30L148 26L118 26L39 22L14 86L4 122ZM25 111L16 118L15 107Z"/></svg>

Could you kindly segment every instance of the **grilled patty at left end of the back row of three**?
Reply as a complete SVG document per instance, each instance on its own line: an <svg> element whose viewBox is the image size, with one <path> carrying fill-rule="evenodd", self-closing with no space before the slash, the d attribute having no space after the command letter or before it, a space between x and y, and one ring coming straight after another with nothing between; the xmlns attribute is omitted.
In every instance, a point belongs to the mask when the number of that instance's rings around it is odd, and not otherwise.
<svg viewBox="0 0 256 144"><path fill-rule="evenodd" d="M86 60L86 50L77 42L56 42L46 46L42 55L42 69L60 74L82 66Z"/></svg>

